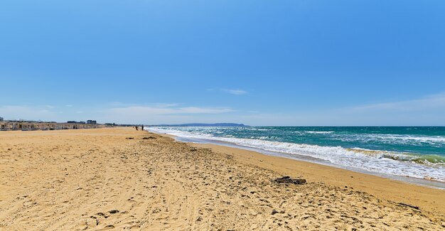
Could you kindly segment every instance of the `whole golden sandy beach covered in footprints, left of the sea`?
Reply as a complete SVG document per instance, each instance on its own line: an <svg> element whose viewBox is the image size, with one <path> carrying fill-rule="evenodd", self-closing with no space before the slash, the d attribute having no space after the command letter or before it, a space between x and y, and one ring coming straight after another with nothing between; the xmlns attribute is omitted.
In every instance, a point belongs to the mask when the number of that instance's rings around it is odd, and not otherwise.
<svg viewBox="0 0 445 231"><path fill-rule="evenodd" d="M130 128L0 132L0 230L444 229L445 190Z"/></svg>

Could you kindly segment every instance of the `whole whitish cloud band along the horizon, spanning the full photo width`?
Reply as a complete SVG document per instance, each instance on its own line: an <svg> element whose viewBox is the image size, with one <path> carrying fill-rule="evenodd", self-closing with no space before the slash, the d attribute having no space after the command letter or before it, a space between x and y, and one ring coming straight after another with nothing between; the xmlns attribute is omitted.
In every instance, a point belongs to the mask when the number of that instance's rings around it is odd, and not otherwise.
<svg viewBox="0 0 445 231"><path fill-rule="evenodd" d="M280 112L264 108L257 112L230 107L183 107L181 104L123 104L79 108L75 112L59 112L60 107L0 106L0 117L63 122L96 119L99 122L126 124L182 124L188 122L235 122L250 125L294 126L444 126L445 93L397 102L381 102L336 109L301 109ZM68 109L68 108L67 108ZM295 107L296 109L296 107Z"/></svg>

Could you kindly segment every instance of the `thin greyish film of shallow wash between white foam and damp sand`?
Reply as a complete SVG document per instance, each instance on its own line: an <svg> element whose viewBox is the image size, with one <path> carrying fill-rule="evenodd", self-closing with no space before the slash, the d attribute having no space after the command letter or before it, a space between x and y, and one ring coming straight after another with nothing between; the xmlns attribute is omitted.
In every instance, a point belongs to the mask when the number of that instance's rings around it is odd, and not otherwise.
<svg viewBox="0 0 445 231"><path fill-rule="evenodd" d="M367 174L367 175L371 175L371 176L387 178L387 179L390 179L393 181L401 181L404 183L410 183L410 184L414 184L417 186L424 186L424 187L428 187L428 188L436 188L436 189L440 189L440 190L445 190L445 182L435 181L435 180L428 179L428 178L416 178L416 177L412 177L412 176L399 176L399 175L393 175L393 174L389 174L389 173L377 173L377 172L368 171L368 170L365 170L362 168L341 166L341 165L334 164L334 163L331 163L329 161L325 161L322 159L316 159L315 157L311 157L311 156L304 156L304 155L299 155L299 154L290 155L290 154L286 154L286 153L282 153L282 152L278 152L278 151L268 151L268 150L264 150L264 149L257 149L257 148L253 148L250 146L242 146L242 145L233 144L233 143L226 142L226 141L219 141L219 140L213 140L213 139L186 138L186 137L176 136L176 135L172 135L172 134L166 134L166 133L162 133L162 132L158 132L158 131L151 131L151 130L149 130L149 128L147 128L146 131L152 132L154 134L160 134L160 135L165 135L168 137L173 137L173 139L176 139L177 141L182 141L182 142L191 143L191 144L213 144L216 146L226 146L226 147L231 147L231 148L235 148L235 149L254 151L259 154L263 154L263 155L267 155L267 156L277 156L280 158L291 159L291 160L295 160L295 161L315 163L315 164L322 165L322 166L329 166L332 168L340 168L340 169L343 169L346 171L353 171L355 173L363 173L363 174Z"/></svg>

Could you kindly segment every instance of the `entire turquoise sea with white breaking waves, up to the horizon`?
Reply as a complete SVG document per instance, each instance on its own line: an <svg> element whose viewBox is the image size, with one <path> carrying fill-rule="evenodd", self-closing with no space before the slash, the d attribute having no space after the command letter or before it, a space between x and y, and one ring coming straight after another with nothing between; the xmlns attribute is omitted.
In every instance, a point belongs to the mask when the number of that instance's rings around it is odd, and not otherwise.
<svg viewBox="0 0 445 231"><path fill-rule="evenodd" d="M445 182L445 127L150 127L295 159Z"/></svg>

